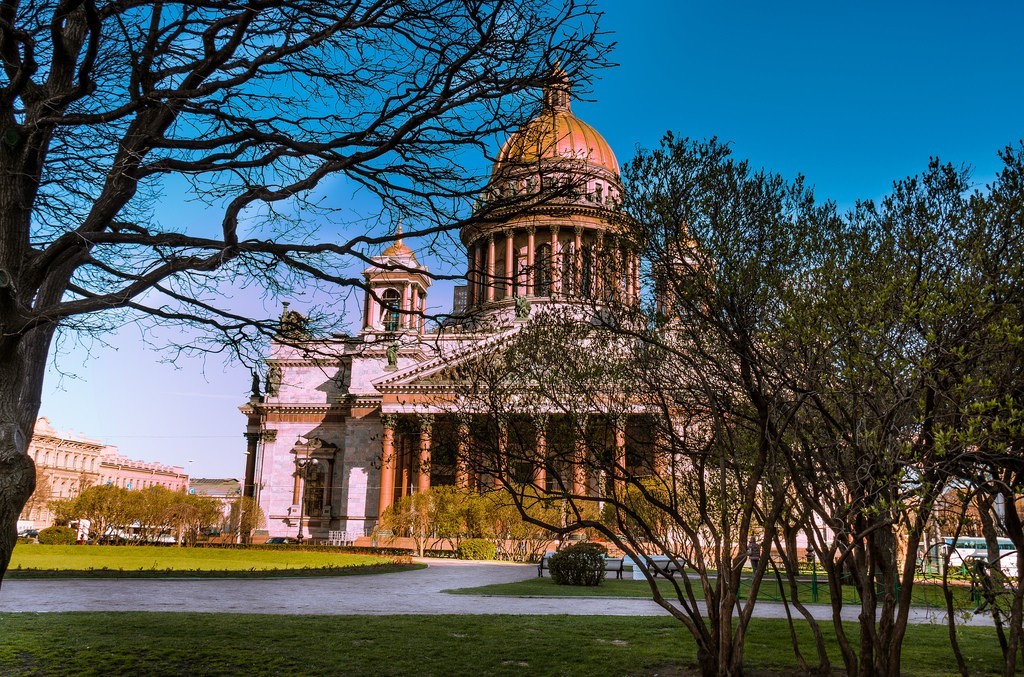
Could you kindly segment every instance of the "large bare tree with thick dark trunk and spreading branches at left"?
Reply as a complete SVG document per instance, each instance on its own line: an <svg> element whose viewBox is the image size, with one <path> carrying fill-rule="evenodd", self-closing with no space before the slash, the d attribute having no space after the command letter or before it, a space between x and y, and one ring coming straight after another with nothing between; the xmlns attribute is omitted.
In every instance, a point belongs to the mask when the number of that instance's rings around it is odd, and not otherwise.
<svg viewBox="0 0 1024 677"><path fill-rule="evenodd" d="M602 62L596 18L589 0L0 3L0 575L58 332L148 318L244 353L278 328L223 285L356 285L377 220L442 247L480 188L467 163L554 64L586 82ZM371 227L321 202L332 176L373 198ZM172 188L216 222L177 222Z"/></svg>

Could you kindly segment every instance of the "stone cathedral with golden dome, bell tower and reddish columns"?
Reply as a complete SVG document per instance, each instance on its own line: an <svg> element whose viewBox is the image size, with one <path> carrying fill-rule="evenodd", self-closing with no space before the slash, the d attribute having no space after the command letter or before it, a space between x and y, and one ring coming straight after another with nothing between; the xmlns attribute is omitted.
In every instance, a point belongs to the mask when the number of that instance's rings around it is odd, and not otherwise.
<svg viewBox="0 0 1024 677"><path fill-rule="evenodd" d="M538 117L505 142L488 186L481 204L513 206L461 231L466 284L456 288L449 321L425 322L431 279L399 229L362 272L370 293L357 335L271 344L264 391L254 388L242 407L245 493L261 506L270 536L355 541L401 497L482 484L460 461L474 433L447 407L458 366L534 313L639 303L640 260L620 239L628 217L618 209L618 163L572 114L567 79L544 92ZM535 199L542 186L550 197ZM300 331L301 316L286 306L283 332L290 323ZM624 463L627 439L642 436L628 436L628 426L643 427L615 419L608 434ZM530 433L542 459L548 434L544 425ZM574 492L599 491L593 478L569 474ZM552 480L543 463L530 478Z"/></svg>

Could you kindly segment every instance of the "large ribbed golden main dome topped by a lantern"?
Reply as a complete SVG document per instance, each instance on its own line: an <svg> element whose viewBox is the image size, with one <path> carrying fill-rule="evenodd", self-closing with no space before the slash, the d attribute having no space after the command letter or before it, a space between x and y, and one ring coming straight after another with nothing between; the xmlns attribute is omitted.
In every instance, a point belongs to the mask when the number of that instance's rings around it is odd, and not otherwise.
<svg viewBox="0 0 1024 677"><path fill-rule="evenodd" d="M505 141L494 173L565 160L585 161L618 177L618 161L611 146L569 110L567 79L545 90L544 111Z"/></svg>

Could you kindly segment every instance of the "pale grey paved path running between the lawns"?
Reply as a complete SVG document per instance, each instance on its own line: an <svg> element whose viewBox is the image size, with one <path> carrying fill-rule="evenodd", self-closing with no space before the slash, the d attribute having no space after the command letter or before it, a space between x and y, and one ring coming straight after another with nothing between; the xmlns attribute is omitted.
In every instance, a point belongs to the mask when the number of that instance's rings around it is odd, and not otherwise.
<svg viewBox="0 0 1024 677"><path fill-rule="evenodd" d="M537 576L536 564L429 560L398 574L308 579L65 579L8 580L0 611L211 611L282 615L513 613L663 616L650 600L609 597L452 595L453 588L510 583ZM814 606L828 620L830 609ZM848 620L856 621L850 607ZM756 616L784 618L781 604L759 602ZM847 613L844 613L847 618ZM911 623L944 623L945 615L911 609ZM971 625L991 625L979 616Z"/></svg>

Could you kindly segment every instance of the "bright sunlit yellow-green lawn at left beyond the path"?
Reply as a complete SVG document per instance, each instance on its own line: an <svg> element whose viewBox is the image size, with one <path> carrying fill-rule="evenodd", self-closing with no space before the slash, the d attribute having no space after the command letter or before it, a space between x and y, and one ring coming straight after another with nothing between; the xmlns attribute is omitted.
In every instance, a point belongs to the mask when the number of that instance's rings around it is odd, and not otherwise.
<svg viewBox="0 0 1024 677"><path fill-rule="evenodd" d="M294 548L219 549L161 546L55 546L22 544L14 548L8 576L75 575L161 576L267 575L310 572L347 573L388 567L390 557L313 552ZM401 567L420 565L400 565Z"/></svg>

